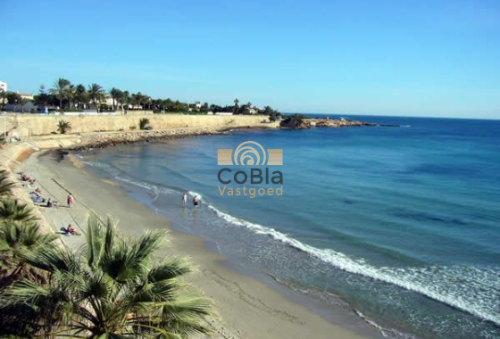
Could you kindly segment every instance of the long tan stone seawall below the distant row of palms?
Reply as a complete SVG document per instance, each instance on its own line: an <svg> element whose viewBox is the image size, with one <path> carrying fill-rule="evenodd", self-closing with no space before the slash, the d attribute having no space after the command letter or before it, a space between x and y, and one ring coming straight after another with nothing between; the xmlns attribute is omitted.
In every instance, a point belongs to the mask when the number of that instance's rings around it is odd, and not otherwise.
<svg viewBox="0 0 500 339"><path fill-rule="evenodd" d="M260 128L276 127L274 124L263 124L268 120L262 115L119 115L119 116L51 116L35 114L19 114L8 116L7 129L15 128L20 136L44 136L57 131L59 120L71 123L70 134L89 132L134 131L139 128L139 120L147 118L154 129L173 128Z"/></svg>

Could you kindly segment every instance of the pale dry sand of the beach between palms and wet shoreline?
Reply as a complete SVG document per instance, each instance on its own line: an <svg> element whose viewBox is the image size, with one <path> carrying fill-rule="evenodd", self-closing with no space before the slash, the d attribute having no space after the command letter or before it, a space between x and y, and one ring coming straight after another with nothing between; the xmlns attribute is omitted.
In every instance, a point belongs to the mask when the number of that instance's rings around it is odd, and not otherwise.
<svg viewBox="0 0 500 339"><path fill-rule="evenodd" d="M71 224L83 233L89 210L119 219L121 232L131 235L139 235L146 229L170 227L167 219L127 197L119 186L94 178L75 166L78 165L76 160L56 162L52 155L38 155L35 153L23 161L16 171L23 170L37 178L44 196L60 203L58 208L39 207L54 231ZM65 204L68 192L75 197L72 208ZM62 238L70 249L78 248L84 241L83 236ZM226 268L222 264L224 258L207 251L203 240L197 236L171 232L171 246L165 246L162 252L187 255L198 267L189 280L215 302L220 318L207 319L216 331L215 338L379 337L374 330L373 333L367 331L361 319L346 325L351 328L334 325L260 281ZM360 330L362 327L364 330Z"/></svg>

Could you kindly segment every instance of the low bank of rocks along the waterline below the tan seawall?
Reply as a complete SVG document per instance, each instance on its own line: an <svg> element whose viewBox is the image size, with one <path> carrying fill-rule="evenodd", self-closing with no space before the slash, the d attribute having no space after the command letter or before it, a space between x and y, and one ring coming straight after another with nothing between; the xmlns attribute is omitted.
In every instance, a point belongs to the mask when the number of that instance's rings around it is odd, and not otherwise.
<svg viewBox="0 0 500 339"><path fill-rule="evenodd" d="M114 145L129 145L138 142L179 139L187 136L212 136L223 131L214 128L179 128L164 130L141 130L134 132L89 133L81 136L79 145L73 145L71 150L86 150L104 148Z"/></svg>

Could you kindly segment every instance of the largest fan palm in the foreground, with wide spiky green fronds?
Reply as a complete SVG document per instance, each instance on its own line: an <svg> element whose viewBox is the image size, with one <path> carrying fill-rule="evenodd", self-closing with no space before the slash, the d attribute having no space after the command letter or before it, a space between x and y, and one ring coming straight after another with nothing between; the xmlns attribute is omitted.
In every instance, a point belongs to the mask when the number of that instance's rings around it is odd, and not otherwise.
<svg viewBox="0 0 500 339"><path fill-rule="evenodd" d="M120 236L112 219L87 219L87 243L73 253L59 247L29 254L27 262L49 273L47 285L28 279L0 295L0 305L29 305L50 314L40 336L74 338L186 338L208 334L201 320L212 303L187 293L179 277L187 261L159 262L154 252L162 233L137 239Z"/></svg>

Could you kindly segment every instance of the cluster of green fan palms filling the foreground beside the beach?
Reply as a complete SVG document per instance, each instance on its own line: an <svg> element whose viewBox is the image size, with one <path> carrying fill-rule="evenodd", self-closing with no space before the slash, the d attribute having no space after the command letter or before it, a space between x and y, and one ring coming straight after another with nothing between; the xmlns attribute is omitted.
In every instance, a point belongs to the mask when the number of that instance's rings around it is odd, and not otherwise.
<svg viewBox="0 0 500 339"><path fill-rule="evenodd" d="M179 257L159 260L165 235L121 236L112 219L87 218L86 243L69 251L12 197L0 171L0 337L187 338L209 334L212 302L181 282ZM196 336L197 337L197 336Z"/></svg>

